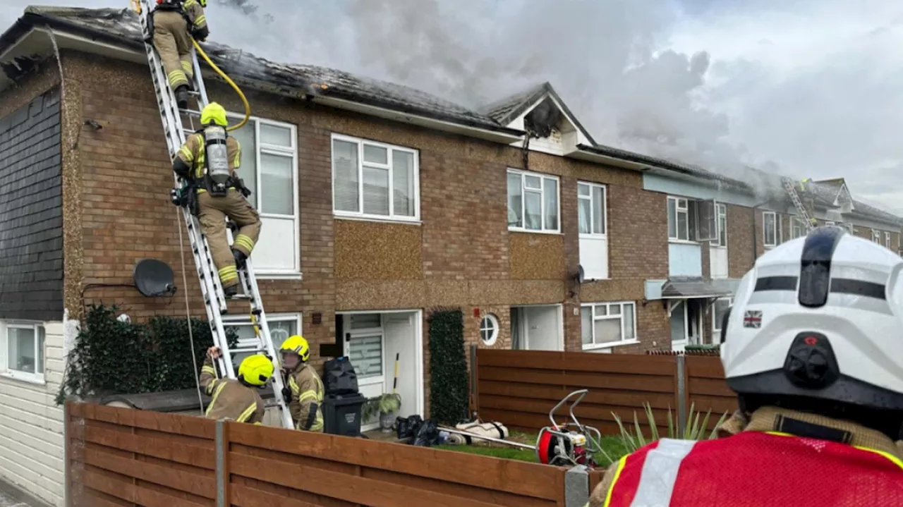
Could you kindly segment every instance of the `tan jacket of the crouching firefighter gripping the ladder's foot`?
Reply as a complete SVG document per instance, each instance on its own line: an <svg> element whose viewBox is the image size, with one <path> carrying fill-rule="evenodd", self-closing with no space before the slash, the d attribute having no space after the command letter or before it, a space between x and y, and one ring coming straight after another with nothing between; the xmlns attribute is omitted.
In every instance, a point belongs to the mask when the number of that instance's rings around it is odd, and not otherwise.
<svg viewBox="0 0 903 507"><path fill-rule="evenodd" d="M200 388L212 398L204 417L261 424L266 406L257 389L237 380L218 379L208 357L200 368Z"/></svg>

